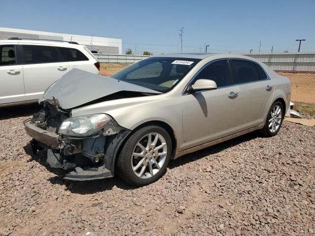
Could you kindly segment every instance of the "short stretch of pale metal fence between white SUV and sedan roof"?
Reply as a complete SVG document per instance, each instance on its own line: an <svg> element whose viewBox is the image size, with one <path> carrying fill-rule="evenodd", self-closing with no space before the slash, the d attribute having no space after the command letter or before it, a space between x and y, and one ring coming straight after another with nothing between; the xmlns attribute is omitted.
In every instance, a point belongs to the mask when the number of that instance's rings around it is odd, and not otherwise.
<svg viewBox="0 0 315 236"><path fill-rule="evenodd" d="M118 54L94 54L101 63L134 63L150 56L144 55L118 55Z"/></svg>

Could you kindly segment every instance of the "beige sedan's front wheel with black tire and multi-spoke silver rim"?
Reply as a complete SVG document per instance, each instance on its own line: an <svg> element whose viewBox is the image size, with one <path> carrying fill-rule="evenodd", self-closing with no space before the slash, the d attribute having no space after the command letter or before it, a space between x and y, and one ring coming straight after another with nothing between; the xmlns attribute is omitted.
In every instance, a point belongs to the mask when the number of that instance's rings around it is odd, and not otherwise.
<svg viewBox="0 0 315 236"><path fill-rule="evenodd" d="M132 185L153 183L166 172L171 152L171 137L165 129L156 125L142 127L122 148L117 161L118 174Z"/></svg>

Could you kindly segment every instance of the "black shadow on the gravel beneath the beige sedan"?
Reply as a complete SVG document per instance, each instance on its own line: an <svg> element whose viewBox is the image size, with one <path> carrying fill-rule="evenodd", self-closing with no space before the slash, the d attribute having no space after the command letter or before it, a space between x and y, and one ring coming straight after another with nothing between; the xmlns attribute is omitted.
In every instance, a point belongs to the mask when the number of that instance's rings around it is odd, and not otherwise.
<svg viewBox="0 0 315 236"><path fill-rule="evenodd" d="M255 139L259 137L259 134L257 132L249 133L243 136L240 136L238 138L225 141L221 144L214 145L209 148L204 148L202 150L189 153L187 155L184 155L176 160L173 160L169 163L168 168L173 169L176 167L179 167L181 165L187 164L192 161L199 160L201 158L204 158L206 156L216 154L226 148L233 147L235 145L238 145L243 142L250 141L252 139ZM63 179L63 175L66 173L65 171L61 169L55 169L50 168L50 166L46 162L47 157L47 151L39 151L32 159L29 161L36 161L40 165L44 166L47 171L54 173L55 177L50 177L48 180L52 184L59 184L64 185L71 193L77 193L77 194L95 194L97 192L103 192L107 190L111 190L113 188L120 188L123 190L130 190L135 189L137 187L130 185L126 183L121 178L115 176L112 178L105 178L105 179L96 179L96 180L86 180L86 181L73 181L73 180L67 180Z"/></svg>

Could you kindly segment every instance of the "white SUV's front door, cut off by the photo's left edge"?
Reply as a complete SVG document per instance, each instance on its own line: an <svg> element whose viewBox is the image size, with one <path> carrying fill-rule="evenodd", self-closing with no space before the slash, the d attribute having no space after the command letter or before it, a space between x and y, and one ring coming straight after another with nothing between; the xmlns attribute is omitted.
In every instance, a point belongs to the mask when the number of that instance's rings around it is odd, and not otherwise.
<svg viewBox="0 0 315 236"><path fill-rule="evenodd" d="M17 44L0 44L0 104L25 101Z"/></svg>

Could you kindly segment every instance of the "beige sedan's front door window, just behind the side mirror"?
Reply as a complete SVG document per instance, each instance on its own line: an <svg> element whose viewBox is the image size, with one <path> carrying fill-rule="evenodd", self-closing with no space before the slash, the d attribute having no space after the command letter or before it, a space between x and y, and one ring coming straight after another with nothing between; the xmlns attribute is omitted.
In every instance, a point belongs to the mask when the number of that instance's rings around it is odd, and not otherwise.
<svg viewBox="0 0 315 236"><path fill-rule="evenodd" d="M207 65L194 81L199 79L213 80L217 83L218 88L230 85L231 72L227 60L219 60Z"/></svg>

